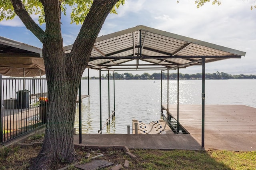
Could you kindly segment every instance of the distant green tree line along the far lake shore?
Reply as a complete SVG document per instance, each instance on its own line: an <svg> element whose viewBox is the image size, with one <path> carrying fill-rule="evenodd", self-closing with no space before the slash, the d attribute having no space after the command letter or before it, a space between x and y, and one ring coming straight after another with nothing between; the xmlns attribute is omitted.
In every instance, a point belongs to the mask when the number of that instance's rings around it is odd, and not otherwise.
<svg viewBox="0 0 256 170"><path fill-rule="evenodd" d="M169 73L169 79L177 79L178 73ZM108 79L108 74L101 76L102 79ZM206 79L256 79L256 75L231 75L223 72L206 73ZM88 79L88 77L82 77L82 79ZM99 79L99 77L90 77L90 79ZM113 79L113 74L109 73L109 79ZM147 79L161 79L161 73L143 73L142 75L132 73L119 74L115 72L115 79L134 79L134 80L147 80ZM162 72L162 79L167 79L167 73ZM196 74L182 74L180 73L180 79L202 79L202 73Z"/></svg>

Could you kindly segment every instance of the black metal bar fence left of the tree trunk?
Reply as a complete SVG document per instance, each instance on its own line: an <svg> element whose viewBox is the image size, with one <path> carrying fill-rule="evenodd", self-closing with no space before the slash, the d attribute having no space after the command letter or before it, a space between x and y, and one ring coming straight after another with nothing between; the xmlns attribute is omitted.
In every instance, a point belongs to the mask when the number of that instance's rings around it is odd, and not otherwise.
<svg viewBox="0 0 256 170"><path fill-rule="evenodd" d="M45 78L3 78L0 74L0 142L46 123Z"/></svg>

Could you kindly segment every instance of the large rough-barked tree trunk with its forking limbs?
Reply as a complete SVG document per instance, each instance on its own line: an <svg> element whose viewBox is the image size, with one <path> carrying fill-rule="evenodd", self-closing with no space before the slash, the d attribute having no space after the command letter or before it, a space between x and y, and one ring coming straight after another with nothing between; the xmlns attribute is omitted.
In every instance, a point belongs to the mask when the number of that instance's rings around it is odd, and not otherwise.
<svg viewBox="0 0 256 170"><path fill-rule="evenodd" d="M73 131L76 96L92 47L110 10L118 0L94 0L70 54L63 51L60 29L60 0L40 0L44 6L46 30L29 17L20 0L11 0L16 14L43 43L48 83L48 114L44 142L31 169L51 169L55 162L76 161Z"/></svg>

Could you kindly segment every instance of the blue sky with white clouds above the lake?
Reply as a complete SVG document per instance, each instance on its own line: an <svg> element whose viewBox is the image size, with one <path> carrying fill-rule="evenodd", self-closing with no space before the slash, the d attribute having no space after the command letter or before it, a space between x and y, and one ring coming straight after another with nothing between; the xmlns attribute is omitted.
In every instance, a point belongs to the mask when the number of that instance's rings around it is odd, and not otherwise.
<svg viewBox="0 0 256 170"><path fill-rule="evenodd" d="M206 73L256 75L256 9L254 0L222 0L222 4L206 3L199 9L195 0L126 0L116 14L109 14L99 36L144 25L189 38L202 40L246 52L241 59L206 63ZM32 17L36 22L37 16ZM44 29L44 24L41 26ZM70 16L62 16L64 46L74 43L81 25L70 24ZM0 22L0 36L42 48L42 43L26 29L18 17ZM143 74L150 71L117 71ZM175 72L175 71L173 71ZM201 73L201 66L180 69L181 73ZM104 72L102 72L104 73ZM172 73L172 71L170 72ZM105 73L104 73L105 74ZM87 75L87 70L83 76ZM90 71L99 76L98 71Z"/></svg>

